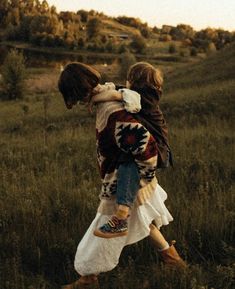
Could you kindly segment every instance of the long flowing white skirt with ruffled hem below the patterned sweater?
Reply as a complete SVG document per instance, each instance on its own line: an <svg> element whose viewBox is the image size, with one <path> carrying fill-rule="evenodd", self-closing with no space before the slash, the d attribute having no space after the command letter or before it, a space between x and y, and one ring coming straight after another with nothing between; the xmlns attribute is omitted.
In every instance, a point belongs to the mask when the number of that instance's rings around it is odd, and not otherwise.
<svg viewBox="0 0 235 289"><path fill-rule="evenodd" d="M166 192L157 184L155 192L142 205L135 205L128 218L128 235L112 239L94 236L97 227L106 223L112 214L102 214L99 211L84 237L78 245L74 266L82 275L99 274L112 270L119 262L122 249L126 245L136 243L149 236L149 225L152 221L158 228L173 220L164 201ZM102 200L104 205L115 206L115 200ZM109 204L108 204L109 203ZM115 211L115 209L114 209Z"/></svg>

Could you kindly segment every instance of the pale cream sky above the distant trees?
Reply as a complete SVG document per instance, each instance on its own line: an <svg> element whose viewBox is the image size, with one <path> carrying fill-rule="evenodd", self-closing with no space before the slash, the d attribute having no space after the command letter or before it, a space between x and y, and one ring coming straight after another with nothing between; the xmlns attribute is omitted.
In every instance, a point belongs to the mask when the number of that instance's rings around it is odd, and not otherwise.
<svg viewBox="0 0 235 289"><path fill-rule="evenodd" d="M150 26L189 24L235 30L235 0L47 0L57 11L96 10L109 16L130 16Z"/></svg>

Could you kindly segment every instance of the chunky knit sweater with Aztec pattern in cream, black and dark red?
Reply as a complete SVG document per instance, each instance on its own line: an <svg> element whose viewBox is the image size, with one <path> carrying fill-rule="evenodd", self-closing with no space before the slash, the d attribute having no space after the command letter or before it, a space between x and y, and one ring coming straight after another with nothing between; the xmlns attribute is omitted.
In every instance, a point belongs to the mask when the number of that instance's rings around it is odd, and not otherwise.
<svg viewBox="0 0 235 289"><path fill-rule="evenodd" d="M155 190L157 143L148 130L128 113L120 102L97 105L96 116L97 159L102 187L100 199L115 198L119 159L129 153L137 163L140 174L138 195Z"/></svg>

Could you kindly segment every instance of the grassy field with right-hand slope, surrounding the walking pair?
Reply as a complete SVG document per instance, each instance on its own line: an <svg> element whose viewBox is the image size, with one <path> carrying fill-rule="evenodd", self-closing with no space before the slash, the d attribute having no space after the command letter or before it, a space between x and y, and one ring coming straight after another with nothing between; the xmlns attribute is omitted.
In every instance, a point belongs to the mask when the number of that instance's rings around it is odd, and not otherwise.
<svg viewBox="0 0 235 289"><path fill-rule="evenodd" d="M102 289L234 288L233 49L177 67L162 99L175 160L158 173L174 216L163 232L189 268L166 268L146 239L100 276ZM95 117L85 107L66 111L56 77L44 80L24 100L0 106L2 289L56 289L77 278L76 246L99 202Z"/></svg>

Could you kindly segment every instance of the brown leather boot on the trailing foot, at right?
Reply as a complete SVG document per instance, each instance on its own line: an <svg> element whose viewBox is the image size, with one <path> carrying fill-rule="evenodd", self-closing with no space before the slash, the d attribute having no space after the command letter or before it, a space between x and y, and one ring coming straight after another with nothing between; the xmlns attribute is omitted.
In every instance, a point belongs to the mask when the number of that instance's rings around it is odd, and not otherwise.
<svg viewBox="0 0 235 289"><path fill-rule="evenodd" d="M187 264L184 260L179 256L178 252L175 249L174 244L176 241L171 241L170 247L166 250L160 251L159 254L166 265L178 268L178 269L186 269Z"/></svg>

